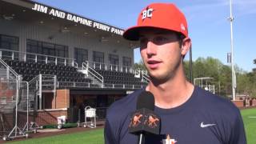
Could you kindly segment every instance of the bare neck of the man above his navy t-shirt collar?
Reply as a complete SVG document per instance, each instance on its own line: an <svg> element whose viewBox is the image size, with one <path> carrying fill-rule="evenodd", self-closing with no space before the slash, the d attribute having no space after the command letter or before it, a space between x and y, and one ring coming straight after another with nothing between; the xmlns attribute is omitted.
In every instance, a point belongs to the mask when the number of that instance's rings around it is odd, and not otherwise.
<svg viewBox="0 0 256 144"><path fill-rule="evenodd" d="M186 102L192 95L194 86L180 73L162 84L154 85L150 82L146 90L154 94L156 106L170 109Z"/></svg>

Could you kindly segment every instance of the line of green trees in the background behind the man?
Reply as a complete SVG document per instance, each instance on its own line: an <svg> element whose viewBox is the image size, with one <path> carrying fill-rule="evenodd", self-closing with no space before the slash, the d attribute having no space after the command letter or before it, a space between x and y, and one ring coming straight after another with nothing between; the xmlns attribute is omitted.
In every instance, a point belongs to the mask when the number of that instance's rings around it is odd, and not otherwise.
<svg viewBox="0 0 256 144"><path fill-rule="evenodd" d="M256 59L254 59L256 64ZM190 79L190 62L184 61L184 71L186 78ZM135 69L146 70L142 60L134 64ZM237 79L237 94L248 94L250 97L256 98L256 68L254 72L247 73L234 66ZM213 78L210 85L215 86L215 92L222 96L232 94L232 78L231 68L228 65L222 64L217 58L197 58L193 62L193 78L210 77Z"/></svg>

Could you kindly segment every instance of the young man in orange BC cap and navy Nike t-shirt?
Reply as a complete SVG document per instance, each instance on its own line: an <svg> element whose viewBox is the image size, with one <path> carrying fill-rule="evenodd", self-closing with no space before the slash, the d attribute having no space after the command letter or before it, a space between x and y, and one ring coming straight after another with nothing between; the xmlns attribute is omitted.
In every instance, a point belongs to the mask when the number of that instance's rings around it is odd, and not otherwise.
<svg viewBox="0 0 256 144"><path fill-rule="evenodd" d="M138 15L137 26L123 37L140 42L140 51L150 83L114 102L106 116L106 144L134 144L128 132L130 114L136 110L143 90L154 94L154 111L161 118L159 135L146 136L145 143L245 144L241 114L234 104L193 86L186 80L183 58L190 50L186 18L174 4L153 3ZM171 140L171 141L170 141Z"/></svg>

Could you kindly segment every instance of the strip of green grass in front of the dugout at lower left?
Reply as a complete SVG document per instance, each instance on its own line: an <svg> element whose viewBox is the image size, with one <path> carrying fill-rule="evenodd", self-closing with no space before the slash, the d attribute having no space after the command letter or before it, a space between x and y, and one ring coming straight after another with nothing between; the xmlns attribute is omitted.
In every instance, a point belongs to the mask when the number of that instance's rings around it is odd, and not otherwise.
<svg viewBox="0 0 256 144"><path fill-rule="evenodd" d="M103 144L103 129L61 134L46 138L31 138L25 141L8 142L10 144Z"/></svg>

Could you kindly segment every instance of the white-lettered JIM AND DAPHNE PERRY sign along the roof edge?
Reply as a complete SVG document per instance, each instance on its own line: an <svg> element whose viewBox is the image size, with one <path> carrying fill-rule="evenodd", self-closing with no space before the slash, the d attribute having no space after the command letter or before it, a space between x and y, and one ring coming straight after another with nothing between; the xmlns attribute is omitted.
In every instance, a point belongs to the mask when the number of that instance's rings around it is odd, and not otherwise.
<svg viewBox="0 0 256 144"><path fill-rule="evenodd" d="M120 30L113 26L107 26L107 25L99 23L99 22L94 22L90 19L86 19L86 18L82 18L82 17L79 17L74 14L66 13L62 10L56 10L56 9L50 8L48 6L42 6L41 4L37 4L37 3L34 3L32 10L35 10L35 11L38 11L38 12L41 12L44 14L49 14L54 17L63 18L63 19L66 19L66 20L69 20L72 22L80 23L85 26L94 27L98 30L105 30L107 32L114 33L114 34L122 35L124 32L123 30Z"/></svg>

